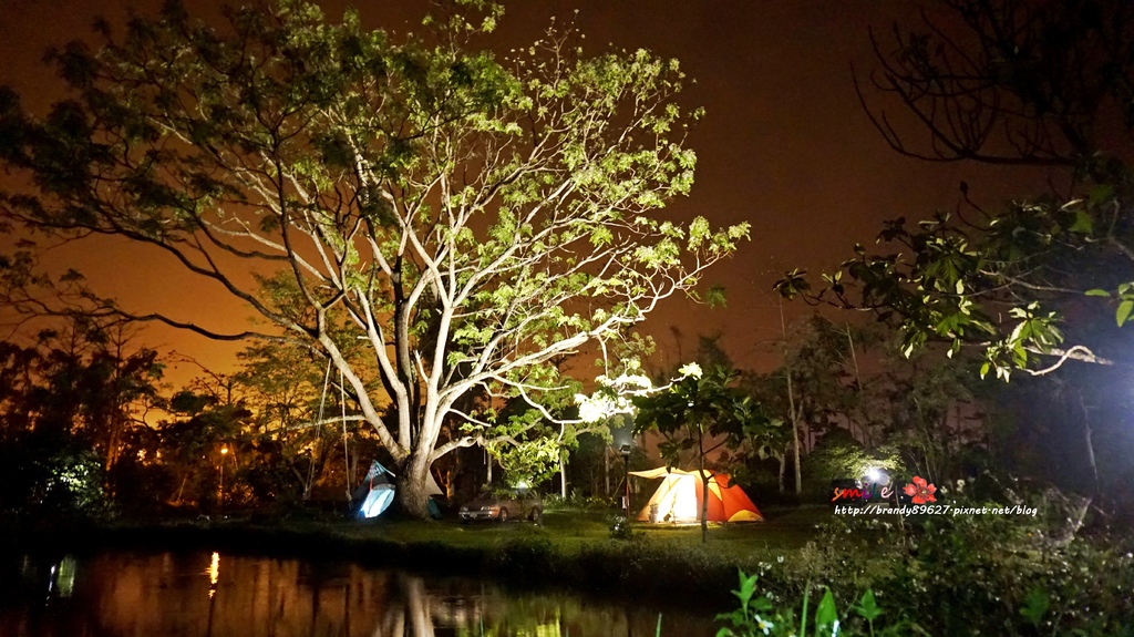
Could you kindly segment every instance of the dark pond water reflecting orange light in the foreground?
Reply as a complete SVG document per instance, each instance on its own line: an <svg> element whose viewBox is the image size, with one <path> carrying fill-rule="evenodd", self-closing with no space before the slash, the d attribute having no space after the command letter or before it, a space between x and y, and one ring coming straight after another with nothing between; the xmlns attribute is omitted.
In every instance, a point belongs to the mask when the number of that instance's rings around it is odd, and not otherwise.
<svg viewBox="0 0 1134 637"><path fill-rule="evenodd" d="M714 634L710 613L661 613L661 635ZM3 637L652 637L658 617L642 604L349 562L132 552L0 560Z"/></svg>

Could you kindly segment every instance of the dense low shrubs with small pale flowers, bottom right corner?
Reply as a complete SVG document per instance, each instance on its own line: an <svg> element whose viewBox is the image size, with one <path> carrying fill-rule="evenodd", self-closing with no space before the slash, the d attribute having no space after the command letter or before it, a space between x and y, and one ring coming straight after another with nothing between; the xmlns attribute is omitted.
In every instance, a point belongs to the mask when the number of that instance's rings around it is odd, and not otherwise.
<svg viewBox="0 0 1134 637"><path fill-rule="evenodd" d="M950 504L982 506L950 494ZM1050 502L1021 504L1034 516L837 517L761 575L771 596L784 598L801 598L813 584L836 601L871 591L887 606L888 626L930 635L1122 634L1134 625L1125 593L1134 586L1134 554L1118 543L1067 538L1066 512ZM843 621L846 630L862 628L853 614Z"/></svg>

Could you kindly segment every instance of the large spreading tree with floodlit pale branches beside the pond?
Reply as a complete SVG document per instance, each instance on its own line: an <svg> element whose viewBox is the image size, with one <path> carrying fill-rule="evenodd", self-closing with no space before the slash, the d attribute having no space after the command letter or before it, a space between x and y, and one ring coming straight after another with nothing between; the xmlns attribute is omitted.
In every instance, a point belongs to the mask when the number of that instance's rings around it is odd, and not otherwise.
<svg viewBox="0 0 1134 637"><path fill-rule="evenodd" d="M0 93L0 158L28 185L3 193L2 219L156 246L277 328L260 336L329 358L417 515L430 465L483 440L442 430L490 424L463 396L538 401L549 360L692 294L747 236L658 215L695 163L676 61L586 56L553 31L499 60L472 43L498 8L457 5L414 35L298 0L220 27L169 2L51 53L69 96L44 119ZM103 301L35 263L34 247L5 260L26 309L252 336ZM369 355L346 354L358 339Z"/></svg>

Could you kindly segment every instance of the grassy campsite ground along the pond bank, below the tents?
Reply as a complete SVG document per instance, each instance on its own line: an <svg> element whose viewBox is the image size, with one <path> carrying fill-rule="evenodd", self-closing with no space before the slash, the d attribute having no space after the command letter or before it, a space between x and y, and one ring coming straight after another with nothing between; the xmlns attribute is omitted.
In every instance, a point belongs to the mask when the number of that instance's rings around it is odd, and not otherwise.
<svg viewBox="0 0 1134 637"><path fill-rule="evenodd" d="M818 525L832 519L826 506L765 507L764 521L710 524L709 546L716 559L742 564L802 549L819 532ZM320 553L320 545L386 546L413 550L445 546L462 554L492 553L508 544L547 544L559 554L576 554L595 547L624 545L611 533L613 510L552 510L543 524L509 520L462 524L455 518L417 520L397 516L359 520L328 511L289 509L274 513L232 512L221 518L154 518L118 520L95 525L84 533L65 533L58 527L28 527L0 523L0 540L28 547L56 542L98 549L102 544L151 549L193 546L220 542L268 553ZM649 525L635 523L629 540L638 547L658 553L684 553L702 546L700 525ZM613 540L613 544L611 544ZM602 549L607 550L607 549ZM617 553L617 550L615 551Z"/></svg>

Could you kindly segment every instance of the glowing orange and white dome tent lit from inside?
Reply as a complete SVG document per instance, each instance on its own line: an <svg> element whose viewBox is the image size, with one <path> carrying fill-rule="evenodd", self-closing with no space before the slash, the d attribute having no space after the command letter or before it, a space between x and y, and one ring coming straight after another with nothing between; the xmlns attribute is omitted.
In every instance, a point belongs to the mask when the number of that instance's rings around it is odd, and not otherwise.
<svg viewBox="0 0 1134 637"><path fill-rule="evenodd" d="M695 524L701 521L703 483L696 472L659 467L648 472L631 472L644 478L665 478L650 501L638 513L640 521ZM737 485L728 486L725 474L705 472L709 476L709 521L763 521L756 506Z"/></svg>

